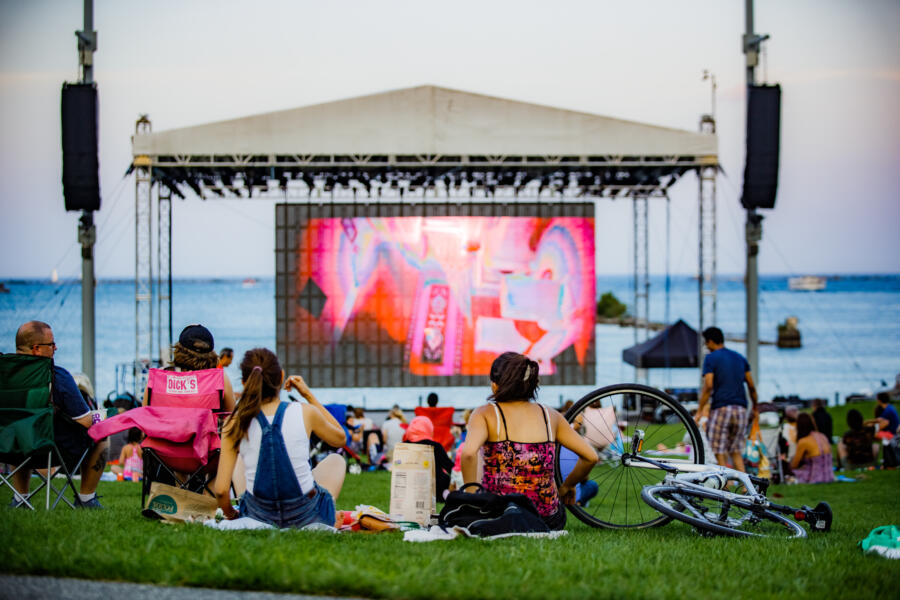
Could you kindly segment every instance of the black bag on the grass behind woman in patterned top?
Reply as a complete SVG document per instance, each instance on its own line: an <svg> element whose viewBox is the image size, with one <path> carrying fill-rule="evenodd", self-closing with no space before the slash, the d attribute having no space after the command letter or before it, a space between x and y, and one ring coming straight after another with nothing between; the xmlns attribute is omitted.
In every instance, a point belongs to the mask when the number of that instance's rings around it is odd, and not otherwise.
<svg viewBox="0 0 900 600"><path fill-rule="evenodd" d="M465 491L473 486L479 488L477 492ZM480 483L467 483L450 492L438 524L444 528L465 527L469 533L482 537L550 531L527 496L495 494Z"/></svg>

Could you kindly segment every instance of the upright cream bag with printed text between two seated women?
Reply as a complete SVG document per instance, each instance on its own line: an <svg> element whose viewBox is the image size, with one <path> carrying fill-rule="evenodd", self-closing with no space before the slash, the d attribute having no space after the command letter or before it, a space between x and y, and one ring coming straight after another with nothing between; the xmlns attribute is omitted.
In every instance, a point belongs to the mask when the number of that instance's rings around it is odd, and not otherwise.
<svg viewBox="0 0 900 600"><path fill-rule="evenodd" d="M436 511L434 448L401 442L391 461L391 517L426 525Z"/></svg>

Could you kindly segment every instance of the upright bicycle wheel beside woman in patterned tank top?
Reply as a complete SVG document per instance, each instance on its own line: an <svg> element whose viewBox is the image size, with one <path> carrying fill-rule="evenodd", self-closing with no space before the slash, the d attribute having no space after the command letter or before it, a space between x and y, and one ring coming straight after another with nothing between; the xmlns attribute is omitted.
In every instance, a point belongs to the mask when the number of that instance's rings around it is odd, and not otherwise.
<svg viewBox="0 0 900 600"><path fill-rule="evenodd" d="M665 473L639 463L626 466L621 458L631 451L635 429L641 429L642 454L702 463L700 431L684 407L655 388L618 384L594 390L575 403L565 417L600 455L600 462L589 475L598 485L596 497L585 506L568 506L569 511L593 527L640 528L666 523L669 517L649 510L640 497L644 486L660 483ZM577 457L562 447L556 455L559 485Z"/></svg>

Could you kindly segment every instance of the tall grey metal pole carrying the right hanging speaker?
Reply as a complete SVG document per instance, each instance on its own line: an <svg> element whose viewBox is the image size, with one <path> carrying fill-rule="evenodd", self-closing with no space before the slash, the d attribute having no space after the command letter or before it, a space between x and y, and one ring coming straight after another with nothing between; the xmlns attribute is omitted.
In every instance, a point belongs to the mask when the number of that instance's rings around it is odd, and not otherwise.
<svg viewBox="0 0 900 600"><path fill-rule="evenodd" d="M756 83L755 71L756 65L759 63L759 44L762 39L753 32L753 0L745 0L744 7L746 20L744 54L747 57L747 95L749 98L750 86ZM750 363L753 380L759 385L759 273L756 256L759 253L759 242L762 239L762 216L758 215L753 208L747 209L745 239L747 241L747 272L744 282L747 292L747 362Z"/></svg>

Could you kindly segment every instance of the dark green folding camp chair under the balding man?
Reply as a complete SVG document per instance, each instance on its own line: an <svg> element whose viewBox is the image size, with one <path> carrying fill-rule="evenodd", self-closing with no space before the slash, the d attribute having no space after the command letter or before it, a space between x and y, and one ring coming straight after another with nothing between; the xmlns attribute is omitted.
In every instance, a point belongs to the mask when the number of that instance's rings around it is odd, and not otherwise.
<svg viewBox="0 0 900 600"><path fill-rule="evenodd" d="M17 465L9 474L0 474L0 487L9 486L14 500L32 510L31 499L45 487L48 510L56 508L60 500L75 508L64 495L67 486L73 498L77 490L54 438L52 386L52 359L25 354L0 355L0 462ZM62 411L57 414L68 418ZM84 450L73 471L79 470L89 450ZM34 469L41 479L40 485L26 495L20 494L12 483L13 475L21 469ZM46 474L38 469L46 469ZM56 476L65 478L61 487L53 485ZM55 496L52 505L51 491Z"/></svg>

